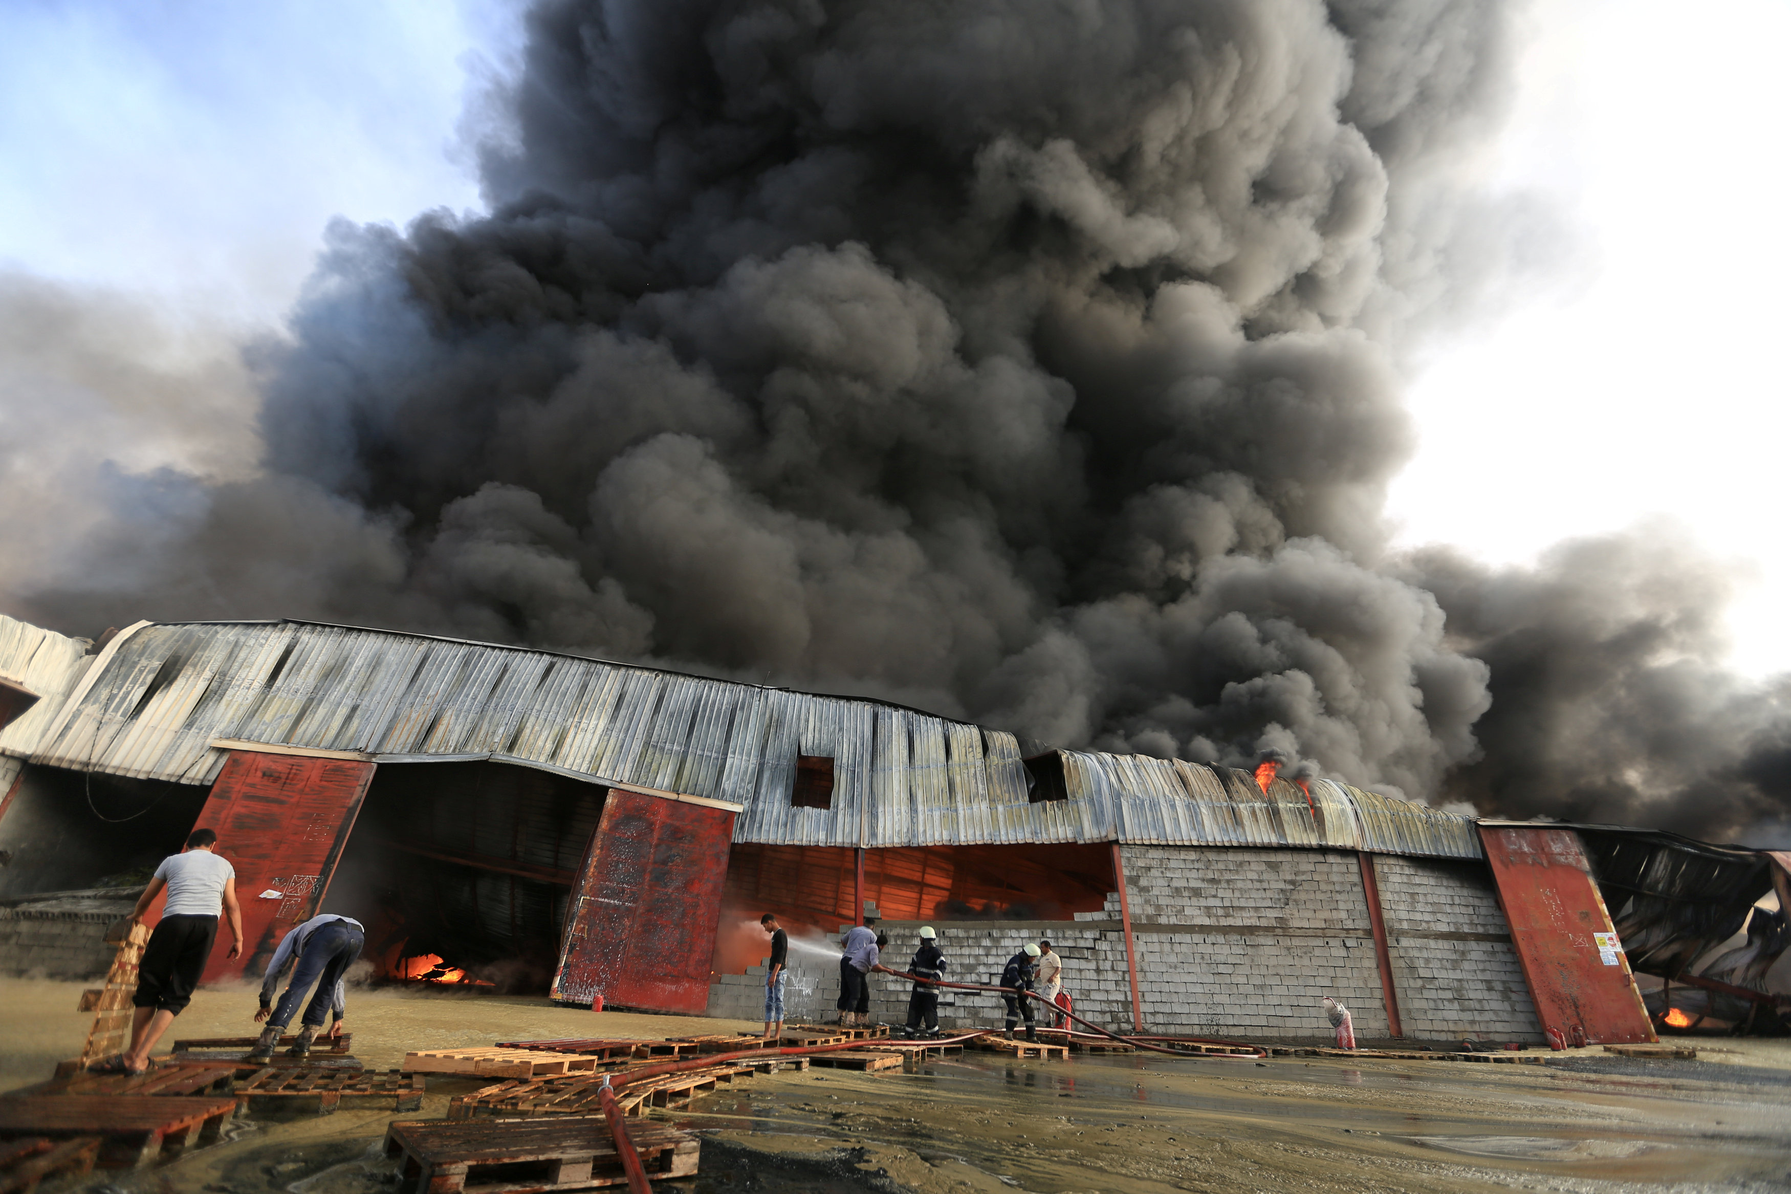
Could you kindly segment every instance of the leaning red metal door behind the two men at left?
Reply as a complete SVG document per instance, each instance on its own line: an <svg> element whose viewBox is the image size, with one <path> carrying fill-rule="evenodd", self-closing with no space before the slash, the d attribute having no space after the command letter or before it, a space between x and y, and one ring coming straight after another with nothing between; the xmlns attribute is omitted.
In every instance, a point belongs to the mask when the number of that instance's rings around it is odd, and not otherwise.
<svg viewBox="0 0 1791 1194"><path fill-rule="evenodd" d="M373 768L353 759L229 752L193 829L217 832L217 852L236 868L244 951L227 958L229 927L220 922L202 981L263 974L279 938L317 915Z"/></svg>

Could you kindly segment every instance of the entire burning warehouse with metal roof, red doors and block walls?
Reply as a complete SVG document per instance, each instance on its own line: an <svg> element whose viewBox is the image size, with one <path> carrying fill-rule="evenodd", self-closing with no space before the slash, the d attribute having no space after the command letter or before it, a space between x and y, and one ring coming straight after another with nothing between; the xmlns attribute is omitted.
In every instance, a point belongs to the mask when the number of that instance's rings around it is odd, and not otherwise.
<svg viewBox="0 0 1791 1194"><path fill-rule="evenodd" d="M25 691L0 732L18 970L79 970L107 891L204 825L249 942L235 961L220 942L208 979L258 974L290 925L340 909L387 979L756 1019L758 913L833 934L874 908L897 949L937 925L960 974L1050 938L1078 1011L1116 1029L1309 1036L1324 995L1365 1036L1777 1024L1782 854L299 621L90 644L0 619L0 677ZM1660 981L1644 995L1632 967ZM793 968L792 1015L831 1006L831 965Z"/></svg>

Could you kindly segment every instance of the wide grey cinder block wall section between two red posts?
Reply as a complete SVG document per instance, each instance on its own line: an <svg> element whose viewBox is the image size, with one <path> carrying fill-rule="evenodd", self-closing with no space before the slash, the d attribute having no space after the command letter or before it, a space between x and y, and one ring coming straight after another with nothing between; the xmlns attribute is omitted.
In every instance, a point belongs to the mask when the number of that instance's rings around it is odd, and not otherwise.
<svg viewBox="0 0 1791 1194"><path fill-rule="evenodd" d="M1121 859L1148 1029L1325 1038L1334 995L1358 1036L1386 1036L1354 854L1123 847ZM1109 908L1118 918L1118 895Z"/></svg>

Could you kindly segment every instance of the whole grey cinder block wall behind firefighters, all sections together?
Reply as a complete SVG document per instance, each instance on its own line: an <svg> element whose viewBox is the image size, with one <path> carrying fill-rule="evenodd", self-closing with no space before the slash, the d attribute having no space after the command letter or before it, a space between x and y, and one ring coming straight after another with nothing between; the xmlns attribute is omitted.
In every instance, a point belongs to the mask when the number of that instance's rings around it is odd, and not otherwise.
<svg viewBox="0 0 1791 1194"><path fill-rule="evenodd" d="M1388 1036L1361 866L1347 850L1123 847L1146 1031L1327 1042L1324 997L1349 1006L1359 1038ZM1510 933L1478 863L1377 856L1404 1035L1540 1042ZM947 977L992 983L1026 942L1064 956L1076 1011L1132 1031L1118 893L1075 922L931 922ZM906 967L917 922L892 924L885 965ZM797 958L786 1015L827 1022L838 963ZM903 1022L910 983L872 976L872 1015ZM765 968L720 976L709 1015L756 1020ZM999 1028L996 995L946 992L942 1028Z"/></svg>

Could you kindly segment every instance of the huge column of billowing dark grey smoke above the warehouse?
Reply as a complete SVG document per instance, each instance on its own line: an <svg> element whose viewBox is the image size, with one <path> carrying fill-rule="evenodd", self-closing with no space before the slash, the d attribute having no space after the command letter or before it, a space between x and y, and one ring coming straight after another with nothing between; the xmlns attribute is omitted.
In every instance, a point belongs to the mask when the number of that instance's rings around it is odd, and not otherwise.
<svg viewBox="0 0 1791 1194"><path fill-rule="evenodd" d="M1512 258L1465 172L1504 7L541 4L493 215L333 227L256 356L263 474L159 476L14 603L441 630L1633 813L1537 754L1569 664L1530 632L1580 644L1581 591L1384 557L1397 365ZM1655 766L1624 716L1585 782Z"/></svg>

